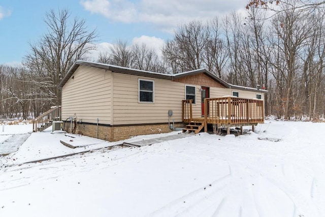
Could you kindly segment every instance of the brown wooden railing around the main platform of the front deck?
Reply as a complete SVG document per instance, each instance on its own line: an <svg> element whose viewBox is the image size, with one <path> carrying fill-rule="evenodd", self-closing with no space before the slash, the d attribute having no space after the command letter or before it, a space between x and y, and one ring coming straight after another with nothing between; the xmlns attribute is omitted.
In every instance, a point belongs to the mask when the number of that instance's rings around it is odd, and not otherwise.
<svg viewBox="0 0 325 217"><path fill-rule="evenodd" d="M264 122L264 101L237 97L207 98L205 122L234 125ZM208 106L206 106L208 105Z"/></svg>

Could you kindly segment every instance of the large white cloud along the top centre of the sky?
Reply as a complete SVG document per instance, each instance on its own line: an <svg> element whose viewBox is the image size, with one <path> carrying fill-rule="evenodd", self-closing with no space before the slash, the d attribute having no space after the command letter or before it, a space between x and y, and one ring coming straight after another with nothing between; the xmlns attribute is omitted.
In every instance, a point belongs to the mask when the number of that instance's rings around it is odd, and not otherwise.
<svg viewBox="0 0 325 217"><path fill-rule="evenodd" d="M242 0L82 0L91 13L124 23L147 22L172 32L178 24L194 19L211 20L216 15L243 10Z"/></svg>

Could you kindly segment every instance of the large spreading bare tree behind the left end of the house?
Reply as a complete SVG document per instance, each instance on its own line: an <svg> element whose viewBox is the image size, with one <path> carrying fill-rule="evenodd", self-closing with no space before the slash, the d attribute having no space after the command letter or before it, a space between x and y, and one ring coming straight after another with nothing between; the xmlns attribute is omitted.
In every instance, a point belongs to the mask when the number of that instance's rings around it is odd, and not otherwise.
<svg viewBox="0 0 325 217"><path fill-rule="evenodd" d="M30 52L25 57L25 66L35 78L47 83L47 94L51 103L61 104L61 92L57 88L60 80L77 59L95 49L95 30L88 32L85 20L70 19L68 10L54 10L46 13L45 24L48 32L35 44L30 44ZM45 79L45 80L44 80ZM37 79L33 79L37 83Z"/></svg>

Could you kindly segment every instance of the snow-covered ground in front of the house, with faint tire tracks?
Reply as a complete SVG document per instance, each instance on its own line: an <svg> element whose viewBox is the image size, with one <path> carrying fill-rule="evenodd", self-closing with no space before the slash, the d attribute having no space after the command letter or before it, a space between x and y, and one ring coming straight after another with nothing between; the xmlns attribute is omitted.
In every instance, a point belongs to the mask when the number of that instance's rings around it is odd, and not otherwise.
<svg viewBox="0 0 325 217"><path fill-rule="evenodd" d="M110 144L82 137L93 146L69 149L62 134L33 133L0 157L0 216L325 216L324 130L267 120L238 137L200 133L21 164Z"/></svg>

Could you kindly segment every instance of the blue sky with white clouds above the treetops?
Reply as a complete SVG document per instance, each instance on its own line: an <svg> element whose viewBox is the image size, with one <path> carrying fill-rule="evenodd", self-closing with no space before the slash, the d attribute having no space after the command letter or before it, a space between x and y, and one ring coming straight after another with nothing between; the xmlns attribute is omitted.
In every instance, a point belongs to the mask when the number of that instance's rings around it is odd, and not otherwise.
<svg viewBox="0 0 325 217"><path fill-rule="evenodd" d="M95 59L118 39L159 50L178 25L244 11L245 5L243 0L0 0L0 64L21 63L30 44L47 33L50 10L68 9L72 18L85 19L89 32L96 29Z"/></svg>

